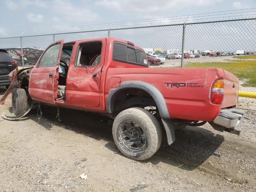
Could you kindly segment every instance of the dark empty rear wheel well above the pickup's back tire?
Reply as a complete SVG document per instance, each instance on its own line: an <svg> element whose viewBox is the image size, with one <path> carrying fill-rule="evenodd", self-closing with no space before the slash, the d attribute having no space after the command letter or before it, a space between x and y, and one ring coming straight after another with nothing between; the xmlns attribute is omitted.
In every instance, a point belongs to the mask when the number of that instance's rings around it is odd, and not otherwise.
<svg viewBox="0 0 256 192"><path fill-rule="evenodd" d="M145 108L153 106L157 110L156 102L146 91L137 88L127 88L118 92L114 99L113 115L131 107Z"/></svg>

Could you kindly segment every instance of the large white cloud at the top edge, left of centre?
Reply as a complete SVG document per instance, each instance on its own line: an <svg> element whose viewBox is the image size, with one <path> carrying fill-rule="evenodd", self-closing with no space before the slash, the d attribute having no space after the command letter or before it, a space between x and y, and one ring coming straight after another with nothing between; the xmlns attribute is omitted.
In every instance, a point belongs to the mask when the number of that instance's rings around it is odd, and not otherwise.
<svg viewBox="0 0 256 192"><path fill-rule="evenodd" d="M91 11L93 9L90 8L88 3L86 5L75 6L69 0L54 0L52 8L66 20L76 23L94 22L99 18L97 13Z"/></svg>

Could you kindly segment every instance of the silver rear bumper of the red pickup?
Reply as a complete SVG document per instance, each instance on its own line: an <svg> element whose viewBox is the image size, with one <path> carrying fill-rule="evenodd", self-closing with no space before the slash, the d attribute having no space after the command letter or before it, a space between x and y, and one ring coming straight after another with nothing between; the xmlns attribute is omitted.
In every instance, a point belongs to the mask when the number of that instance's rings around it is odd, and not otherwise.
<svg viewBox="0 0 256 192"><path fill-rule="evenodd" d="M240 135L240 130L236 130L236 127L242 122L244 117L244 111L236 108L224 108L220 110L220 113L213 122L209 122L212 127L219 131L228 131L237 135Z"/></svg>

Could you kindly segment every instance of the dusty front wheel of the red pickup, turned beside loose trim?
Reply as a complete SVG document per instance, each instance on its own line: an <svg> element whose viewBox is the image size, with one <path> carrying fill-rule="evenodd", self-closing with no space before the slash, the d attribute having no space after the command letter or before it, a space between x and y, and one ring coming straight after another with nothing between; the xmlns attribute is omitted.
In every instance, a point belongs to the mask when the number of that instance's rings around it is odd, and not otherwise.
<svg viewBox="0 0 256 192"><path fill-rule="evenodd" d="M12 113L15 116L22 115L28 108L28 98L24 89L12 91Z"/></svg>

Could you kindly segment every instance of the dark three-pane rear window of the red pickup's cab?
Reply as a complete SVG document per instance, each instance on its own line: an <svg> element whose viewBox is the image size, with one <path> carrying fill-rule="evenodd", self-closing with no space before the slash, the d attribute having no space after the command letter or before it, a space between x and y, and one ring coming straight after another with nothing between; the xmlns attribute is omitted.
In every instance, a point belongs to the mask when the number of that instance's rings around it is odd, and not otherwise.
<svg viewBox="0 0 256 192"><path fill-rule="evenodd" d="M148 66L146 53L136 47L114 42L113 60Z"/></svg>

